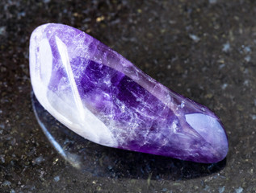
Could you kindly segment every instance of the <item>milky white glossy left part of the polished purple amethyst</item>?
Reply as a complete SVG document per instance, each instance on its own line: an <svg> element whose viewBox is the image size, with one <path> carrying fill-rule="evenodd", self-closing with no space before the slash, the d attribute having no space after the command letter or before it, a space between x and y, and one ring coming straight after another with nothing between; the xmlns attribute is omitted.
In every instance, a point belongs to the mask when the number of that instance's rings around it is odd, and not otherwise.
<svg viewBox="0 0 256 193"><path fill-rule="evenodd" d="M69 62L68 48L58 37L55 39L66 72L64 79L69 81L61 80L60 89L55 92L48 88L54 68L52 68L52 50L44 35L45 27L47 25L37 28L32 33L30 42L31 84L36 98L53 117L75 133L104 146L117 146L107 126L83 105Z"/></svg>

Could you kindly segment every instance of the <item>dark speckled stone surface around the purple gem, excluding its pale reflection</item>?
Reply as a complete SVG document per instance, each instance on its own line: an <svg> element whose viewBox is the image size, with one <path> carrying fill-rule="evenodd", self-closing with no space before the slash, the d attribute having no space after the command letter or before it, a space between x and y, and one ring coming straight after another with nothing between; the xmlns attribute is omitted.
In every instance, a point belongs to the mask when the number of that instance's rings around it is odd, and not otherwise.
<svg viewBox="0 0 256 193"><path fill-rule="evenodd" d="M256 192L255 16L253 0L2 0L0 192ZM86 31L208 106L228 133L227 158L183 162L78 138L87 167L100 172L71 166L48 142L31 106L29 37L43 23Z"/></svg>

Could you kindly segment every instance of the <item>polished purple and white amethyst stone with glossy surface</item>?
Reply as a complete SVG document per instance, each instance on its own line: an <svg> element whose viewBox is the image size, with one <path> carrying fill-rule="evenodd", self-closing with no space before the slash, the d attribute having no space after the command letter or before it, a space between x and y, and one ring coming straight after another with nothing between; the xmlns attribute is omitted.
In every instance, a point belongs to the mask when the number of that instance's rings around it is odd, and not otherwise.
<svg viewBox="0 0 256 193"><path fill-rule="evenodd" d="M73 27L33 31L30 74L40 104L92 142L194 162L219 162L228 152L214 113Z"/></svg>

